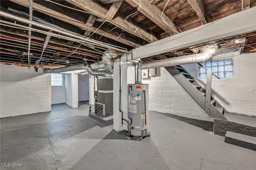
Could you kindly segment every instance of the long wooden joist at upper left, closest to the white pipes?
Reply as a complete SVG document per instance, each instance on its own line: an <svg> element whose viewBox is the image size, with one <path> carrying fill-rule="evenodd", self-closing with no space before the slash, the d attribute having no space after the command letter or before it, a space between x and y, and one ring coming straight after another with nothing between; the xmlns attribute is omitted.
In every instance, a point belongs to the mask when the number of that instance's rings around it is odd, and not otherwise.
<svg viewBox="0 0 256 170"><path fill-rule="evenodd" d="M12 2L15 2L17 4L20 4L22 6L26 6L29 7L29 0L11 0ZM90 32L94 32L97 30L97 28L95 27L88 27L86 26L84 22L82 22L82 20L84 20L83 16L79 16L77 15L77 12L73 12L72 10L70 10L68 13L66 12L66 9L63 8L56 8L55 6L52 6L52 8L47 8L41 4L38 4L36 2L40 2L40 1L35 1L33 3L33 9L38 11L38 12L42 12L43 14L46 14L48 16L57 18L59 20L62 20L64 22L67 22L69 24L72 24L74 26L78 26L84 30L88 30ZM122 37L126 37L126 40L123 41L120 38L116 39L118 37L118 33L117 32L109 32L108 30L105 31L106 29L101 27L101 29L99 29L96 34L100 34L101 36L104 36L106 38L110 38L112 40L115 40L117 42L132 46L132 47L138 47L141 46L142 42L141 41L135 41L134 38L131 38L130 36L128 36L128 34L123 33Z"/></svg>

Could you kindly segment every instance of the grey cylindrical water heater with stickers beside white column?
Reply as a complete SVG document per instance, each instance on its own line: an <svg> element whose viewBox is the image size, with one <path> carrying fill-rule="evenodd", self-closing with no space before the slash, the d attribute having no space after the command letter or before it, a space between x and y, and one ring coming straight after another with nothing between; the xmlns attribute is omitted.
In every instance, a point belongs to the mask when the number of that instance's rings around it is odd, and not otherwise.
<svg viewBox="0 0 256 170"><path fill-rule="evenodd" d="M148 84L128 84L128 134L135 140L149 136Z"/></svg>

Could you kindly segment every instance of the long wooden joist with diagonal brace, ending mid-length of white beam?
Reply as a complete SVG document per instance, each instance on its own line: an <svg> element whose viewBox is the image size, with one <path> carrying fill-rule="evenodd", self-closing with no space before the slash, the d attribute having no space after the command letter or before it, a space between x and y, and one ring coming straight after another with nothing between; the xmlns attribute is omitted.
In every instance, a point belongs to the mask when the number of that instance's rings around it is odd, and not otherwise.
<svg viewBox="0 0 256 170"><path fill-rule="evenodd" d="M103 20L107 20L111 22L112 24L122 28L126 32L132 33L148 42L155 42L158 40L156 35L151 33L147 28L141 26L140 24L133 22L131 20L125 20L124 14L117 13L116 18L113 20L109 20L106 18L106 14L108 13L108 10L104 7L102 7L98 2L93 0L67 0L67 2L78 6L79 8L90 12L91 14L94 14L98 16L99 18L102 18Z"/></svg>

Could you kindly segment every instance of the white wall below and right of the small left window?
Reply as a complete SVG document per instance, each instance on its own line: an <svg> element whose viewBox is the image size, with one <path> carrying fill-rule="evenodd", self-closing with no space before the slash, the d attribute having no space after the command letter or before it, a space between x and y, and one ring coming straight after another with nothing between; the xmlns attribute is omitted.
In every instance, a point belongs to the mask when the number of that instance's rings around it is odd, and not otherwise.
<svg viewBox="0 0 256 170"><path fill-rule="evenodd" d="M65 75L63 74L63 86L52 86L52 105L58 103L65 103Z"/></svg>

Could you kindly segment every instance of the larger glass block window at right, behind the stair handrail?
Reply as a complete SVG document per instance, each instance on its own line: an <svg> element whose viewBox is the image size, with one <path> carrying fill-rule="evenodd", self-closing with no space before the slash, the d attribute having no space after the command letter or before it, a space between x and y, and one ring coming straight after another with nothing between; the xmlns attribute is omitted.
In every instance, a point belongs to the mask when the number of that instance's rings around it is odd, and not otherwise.
<svg viewBox="0 0 256 170"><path fill-rule="evenodd" d="M232 59L221 59L214 61L205 61L201 63L207 69L210 69L212 73L219 77L233 77L233 61ZM207 76L206 69L199 65L199 78L205 79ZM212 75L212 78L216 78Z"/></svg>

